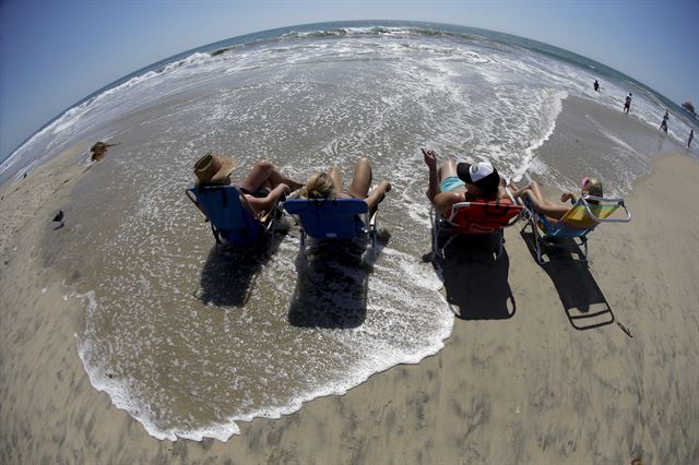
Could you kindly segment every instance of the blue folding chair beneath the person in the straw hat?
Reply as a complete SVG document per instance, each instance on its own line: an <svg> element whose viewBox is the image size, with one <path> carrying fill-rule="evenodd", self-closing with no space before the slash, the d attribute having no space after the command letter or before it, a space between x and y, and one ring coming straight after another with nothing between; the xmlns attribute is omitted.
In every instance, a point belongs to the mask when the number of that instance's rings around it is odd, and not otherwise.
<svg viewBox="0 0 699 465"><path fill-rule="evenodd" d="M257 219L242 204L245 198L235 186L194 187L186 194L210 222L217 245L252 246L281 215L275 205L265 217Z"/></svg>

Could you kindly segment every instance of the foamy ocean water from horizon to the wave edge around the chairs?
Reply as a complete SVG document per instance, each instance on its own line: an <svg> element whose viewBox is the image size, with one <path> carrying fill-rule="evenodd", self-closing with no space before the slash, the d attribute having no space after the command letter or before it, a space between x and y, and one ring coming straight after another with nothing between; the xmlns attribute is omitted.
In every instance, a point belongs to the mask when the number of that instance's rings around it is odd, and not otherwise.
<svg viewBox="0 0 699 465"><path fill-rule="evenodd" d="M565 123L604 144L580 150L556 132L571 102L582 110ZM656 131L665 108L667 135L641 130ZM423 258L419 147L560 189L594 176L625 194L653 156L682 147L690 124L652 90L545 44L442 24L323 23L126 76L25 142L0 181L20 182L80 144L85 166L93 142L120 144L72 193L70 234L47 237L46 263L85 308L78 353L97 390L156 438L225 441L237 421L293 413L443 347L453 313ZM240 160L234 178L266 158L297 180L336 165L345 183L368 156L375 181L393 184L376 259L360 247L306 257L288 218L260 250L217 250L185 196L210 150Z"/></svg>

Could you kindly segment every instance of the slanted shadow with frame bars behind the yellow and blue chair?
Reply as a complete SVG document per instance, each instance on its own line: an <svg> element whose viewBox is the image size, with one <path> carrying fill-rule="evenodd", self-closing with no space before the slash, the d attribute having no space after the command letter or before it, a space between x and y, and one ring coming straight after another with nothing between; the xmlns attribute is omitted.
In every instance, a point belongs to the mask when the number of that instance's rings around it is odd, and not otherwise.
<svg viewBox="0 0 699 465"><path fill-rule="evenodd" d="M524 228L520 235L536 260L534 234ZM612 308L590 273L588 262L579 260L582 257L580 247L571 238L556 241L556 247L543 247L542 259L545 257L547 261L541 266L556 286L572 327L584 331L614 323Z"/></svg>

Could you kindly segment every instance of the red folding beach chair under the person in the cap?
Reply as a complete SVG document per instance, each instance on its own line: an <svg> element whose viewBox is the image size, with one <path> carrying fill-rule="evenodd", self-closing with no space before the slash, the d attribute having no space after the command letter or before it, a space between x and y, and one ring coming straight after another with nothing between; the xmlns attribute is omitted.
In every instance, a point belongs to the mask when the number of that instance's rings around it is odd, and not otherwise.
<svg viewBox="0 0 699 465"><path fill-rule="evenodd" d="M505 242L503 228L514 225L524 207L511 196L499 201L459 202L452 205L446 215L439 215L433 206L433 252L445 258L445 250L459 235L497 234L496 260L502 254ZM442 247L439 238L448 234Z"/></svg>

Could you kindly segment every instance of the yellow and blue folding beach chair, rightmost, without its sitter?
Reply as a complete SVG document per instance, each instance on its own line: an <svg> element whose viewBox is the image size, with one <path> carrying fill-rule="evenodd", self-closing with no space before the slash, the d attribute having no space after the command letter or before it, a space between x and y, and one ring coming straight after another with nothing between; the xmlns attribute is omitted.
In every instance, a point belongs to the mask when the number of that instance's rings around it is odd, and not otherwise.
<svg viewBox="0 0 699 465"><path fill-rule="evenodd" d="M591 205L589 200L596 201ZM536 248L536 261L544 264L542 260L542 246L560 246L556 243L557 238L571 238L578 247L584 247L582 261L588 260L588 235L601 223L628 223L631 214L624 203L624 199L609 199L593 195L583 195L566 214L555 224L552 224L545 215L534 210L531 200L525 195L524 205L529 211L530 220L534 231L534 242ZM623 208L624 216L613 218L612 215ZM526 227L526 225L524 226ZM578 241L576 241L578 239Z"/></svg>

